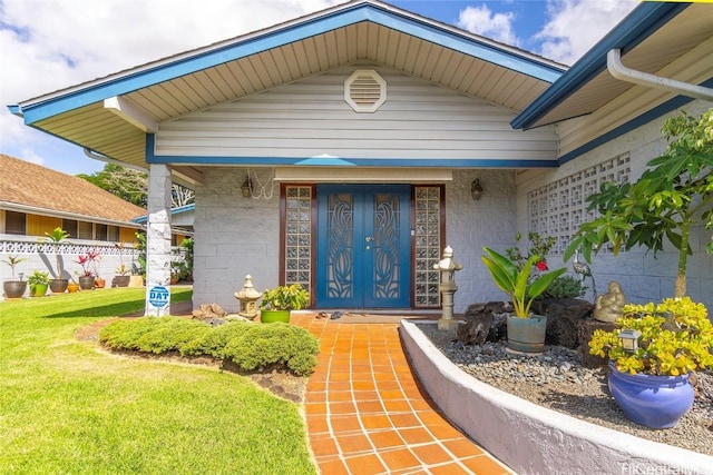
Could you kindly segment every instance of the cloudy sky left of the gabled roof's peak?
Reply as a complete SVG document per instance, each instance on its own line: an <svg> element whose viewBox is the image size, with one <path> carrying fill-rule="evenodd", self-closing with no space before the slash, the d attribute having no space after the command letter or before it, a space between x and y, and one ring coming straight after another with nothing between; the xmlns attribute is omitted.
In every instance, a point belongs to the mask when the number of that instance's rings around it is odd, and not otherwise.
<svg viewBox="0 0 713 475"><path fill-rule="evenodd" d="M25 127L9 103L343 1L0 0L0 151L39 160L37 141L57 141Z"/></svg>

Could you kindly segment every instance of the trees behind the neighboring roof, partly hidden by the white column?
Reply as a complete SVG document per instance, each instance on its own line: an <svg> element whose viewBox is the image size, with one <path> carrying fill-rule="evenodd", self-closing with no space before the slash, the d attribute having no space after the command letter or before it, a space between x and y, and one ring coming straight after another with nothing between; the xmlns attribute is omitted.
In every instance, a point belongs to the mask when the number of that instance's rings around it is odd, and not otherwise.
<svg viewBox="0 0 713 475"><path fill-rule="evenodd" d="M141 171L131 170L114 164L106 164L101 171L92 175L77 175L79 178L116 195L125 201L146 208L148 200L148 176ZM170 206L177 208L192 204L195 192L178 184L170 187Z"/></svg>

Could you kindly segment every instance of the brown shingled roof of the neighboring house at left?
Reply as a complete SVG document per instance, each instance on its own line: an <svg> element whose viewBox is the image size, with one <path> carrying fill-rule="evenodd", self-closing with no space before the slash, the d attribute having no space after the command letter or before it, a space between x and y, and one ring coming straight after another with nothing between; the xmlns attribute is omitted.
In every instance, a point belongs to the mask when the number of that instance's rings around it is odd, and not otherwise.
<svg viewBox="0 0 713 475"><path fill-rule="evenodd" d="M89 181L0 154L0 209L135 227L146 210Z"/></svg>

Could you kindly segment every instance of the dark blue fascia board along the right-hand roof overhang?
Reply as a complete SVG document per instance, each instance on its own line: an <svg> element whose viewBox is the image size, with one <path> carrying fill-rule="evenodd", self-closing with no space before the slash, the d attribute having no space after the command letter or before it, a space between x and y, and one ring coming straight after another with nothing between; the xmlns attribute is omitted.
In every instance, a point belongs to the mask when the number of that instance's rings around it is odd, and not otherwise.
<svg viewBox="0 0 713 475"><path fill-rule="evenodd" d="M514 129L527 129L549 113L570 95L606 69L606 53L612 49L626 52L681 13L690 3L642 2L602 41L595 44L567 72L561 75L524 111L510 121Z"/></svg>

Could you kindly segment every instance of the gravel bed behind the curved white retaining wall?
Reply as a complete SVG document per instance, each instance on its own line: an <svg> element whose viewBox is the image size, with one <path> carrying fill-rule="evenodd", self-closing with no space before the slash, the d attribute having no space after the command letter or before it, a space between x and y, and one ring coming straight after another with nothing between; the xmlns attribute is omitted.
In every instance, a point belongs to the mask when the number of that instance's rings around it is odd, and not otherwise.
<svg viewBox="0 0 713 475"><path fill-rule="evenodd" d="M545 346L538 356L506 352L505 343L463 346L456 330L418 328L463 372L499 389L583 420L654 442L713 455L713 374L697 374L693 408L670 429L628 420L607 387L607 369L582 366L578 352Z"/></svg>

